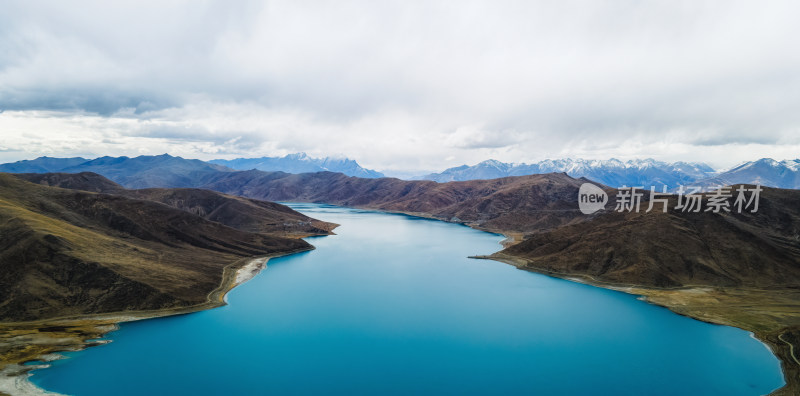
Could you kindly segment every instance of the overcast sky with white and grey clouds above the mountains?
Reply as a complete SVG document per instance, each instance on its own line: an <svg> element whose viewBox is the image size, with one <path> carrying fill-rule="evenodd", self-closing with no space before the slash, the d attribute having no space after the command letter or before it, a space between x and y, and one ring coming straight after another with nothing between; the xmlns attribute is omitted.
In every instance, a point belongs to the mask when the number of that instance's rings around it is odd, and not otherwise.
<svg viewBox="0 0 800 396"><path fill-rule="evenodd" d="M797 1L3 2L0 162L798 158L798 15Z"/></svg>

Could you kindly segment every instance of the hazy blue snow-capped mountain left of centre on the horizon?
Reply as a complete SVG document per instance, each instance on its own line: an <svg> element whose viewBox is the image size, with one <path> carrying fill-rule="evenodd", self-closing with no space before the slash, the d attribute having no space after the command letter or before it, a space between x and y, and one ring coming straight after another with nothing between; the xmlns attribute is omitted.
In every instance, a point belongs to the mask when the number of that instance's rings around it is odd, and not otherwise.
<svg viewBox="0 0 800 396"><path fill-rule="evenodd" d="M233 160L216 159L208 161L237 170L258 169L286 173L341 172L348 176L365 178L383 177L383 174L361 167L358 162L348 158L312 158L306 153L289 154L284 157L237 158Z"/></svg>

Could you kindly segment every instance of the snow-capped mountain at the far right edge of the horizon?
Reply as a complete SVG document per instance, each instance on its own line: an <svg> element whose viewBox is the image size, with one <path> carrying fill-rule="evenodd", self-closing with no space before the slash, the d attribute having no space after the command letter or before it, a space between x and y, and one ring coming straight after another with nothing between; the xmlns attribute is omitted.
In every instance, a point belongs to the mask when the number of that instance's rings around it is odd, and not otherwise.
<svg viewBox="0 0 800 396"><path fill-rule="evenodd" d="M708 188L737 183L800 189L800 159L776 161L762 158L749 161L696 184Z"/></svg>

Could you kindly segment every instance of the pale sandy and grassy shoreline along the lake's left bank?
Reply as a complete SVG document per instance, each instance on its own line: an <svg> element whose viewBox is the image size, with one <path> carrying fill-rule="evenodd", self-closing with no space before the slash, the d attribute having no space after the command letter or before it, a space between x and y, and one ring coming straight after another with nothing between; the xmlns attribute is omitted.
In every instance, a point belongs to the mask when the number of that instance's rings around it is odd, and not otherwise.
<svg viewBox="0 0 800 396"><path fill-rule="evenodd" d="M2 322L0 323L0 336L5 336L5 338L0 337L0 347L3 346L3 341L12 344L11 347L13 347L14 341L17 341L20 344L36 345L38 350L23 353L10 362L0 363L0 396L63 396L41 389L30 381L35 370L48 368L50 367L49 362L65 358L61 352L80 351L110 343L111 340L98 339L118 330L121 323L185 315L225 306L228 293L261 273L267 267L270 259L313 249L314 247L311 246L289 252L236 260L223 268L220 285L208 294L206 302L192 306L152 311L56 317L27 322ZM63 330L40 332L39 329L42 328ZM2 352L2 348L0 348L0 352ZM27 362L37 361L41 361L42 364L24 365Z"/></svg>

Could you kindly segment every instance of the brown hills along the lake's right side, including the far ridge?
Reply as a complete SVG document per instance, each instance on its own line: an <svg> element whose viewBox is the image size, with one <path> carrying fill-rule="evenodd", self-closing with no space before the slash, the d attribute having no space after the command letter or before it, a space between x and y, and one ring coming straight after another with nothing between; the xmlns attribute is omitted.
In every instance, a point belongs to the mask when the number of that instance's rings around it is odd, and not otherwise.
<svg viewBox="0 0 800 396"><path fill-rule="evenodd" d="M207 185L252 198L400 212L501 233L505 249L476 257L643 296L706 322L751 331L800 392L800 191L764 188L756 213L583 215L587 179L563 173L449 183L340 174L228 173ZM675 207L675 197L670 208Z"/></svg>

